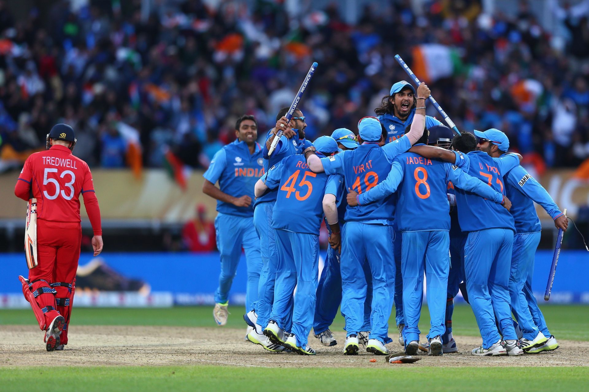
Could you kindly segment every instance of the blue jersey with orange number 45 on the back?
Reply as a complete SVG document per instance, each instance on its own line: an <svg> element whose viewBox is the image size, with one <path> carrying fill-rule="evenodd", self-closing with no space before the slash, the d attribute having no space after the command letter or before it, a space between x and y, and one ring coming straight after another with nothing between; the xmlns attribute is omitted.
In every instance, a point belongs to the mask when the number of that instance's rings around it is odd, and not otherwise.
<svg viewBox="0 0 589 392"><path fill-rule="evenodd" d="M277 189L272 227L318 236L326 184L327 175L313 173L303 155L287 156L273 166L266 178L266 186Z"/></svg>

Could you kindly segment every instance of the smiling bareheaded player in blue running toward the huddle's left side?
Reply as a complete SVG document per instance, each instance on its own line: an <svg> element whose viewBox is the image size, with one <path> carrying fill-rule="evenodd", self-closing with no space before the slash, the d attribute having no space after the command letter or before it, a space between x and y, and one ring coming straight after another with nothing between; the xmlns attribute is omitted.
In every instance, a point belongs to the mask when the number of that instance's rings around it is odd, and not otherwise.
<svg viewBox="0 0 589 392"><path fill-rule="evenodd" d="M221 256L219 287L215 292L213 317L219 326L227 323L229 290L235 277L241 247L246 253L246 309L257 300L258 281L262 269L260 241L253 229L252 199L254 185L264 173L262 146L257 142L254 116L241 116L235 125L237 140L215 154L204 173L203 193L217 199L215 229ZM215 183L219 180L219 188Z"/></svg>

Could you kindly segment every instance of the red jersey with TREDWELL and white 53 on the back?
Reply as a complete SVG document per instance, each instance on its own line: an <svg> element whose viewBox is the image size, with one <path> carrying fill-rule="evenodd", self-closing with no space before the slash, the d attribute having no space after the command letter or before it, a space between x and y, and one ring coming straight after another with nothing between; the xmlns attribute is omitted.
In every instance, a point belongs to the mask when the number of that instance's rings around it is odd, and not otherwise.
<svg viewBox="0 0 589 392"><path fill-rule="evenodd" d="M30 155L18 179L28 183L27 190L32 190L32 197L37 197L37 219L79 223L80 194L92 192L92 195L88 195L91 197L84 199L87 210L87 199L96 200L90 168L86 162L72 155L71 150L65 146L54 145L49 150ZM24 189L19 186L18 181L17 189L21 192ZM17 196L28 198L26 195ZM95 206L98 208L97 201ZM88 211L89 216L90 214ZM90 220L96 233L100 229L100 210L98 226L94 227L92 218Z"/></svg>

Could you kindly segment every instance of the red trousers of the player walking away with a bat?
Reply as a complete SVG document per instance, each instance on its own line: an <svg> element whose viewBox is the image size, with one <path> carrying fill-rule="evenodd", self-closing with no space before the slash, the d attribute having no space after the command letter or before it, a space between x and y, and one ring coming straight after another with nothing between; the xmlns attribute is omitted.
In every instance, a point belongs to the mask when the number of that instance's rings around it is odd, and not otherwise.
<svg viewBox="0 0 589 392"><path fill-rule="evenodd" d="M47 326L57 317L57 311L65 317L66 324L70 322L70 304L74 299L75 274L78 270L78 260L80 260L81 241L80 223L37 220L39 265L29 270L29 281L42 279L57 292L54 296L43 294L37 297L39 307L52 306L57 309L45 313ZM45 283L38 281L34 283L33 288L37 289L38 286L45 286ZM62 331L61 343L67 344L67 325Z"/></svg>

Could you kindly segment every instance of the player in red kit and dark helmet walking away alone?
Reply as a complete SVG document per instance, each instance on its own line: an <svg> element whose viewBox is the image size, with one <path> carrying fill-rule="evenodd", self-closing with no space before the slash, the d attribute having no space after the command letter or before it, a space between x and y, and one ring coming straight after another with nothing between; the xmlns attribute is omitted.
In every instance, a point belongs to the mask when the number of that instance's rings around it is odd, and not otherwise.
<svg viewBox="0 0 589 392"><path fill-rule="evenodd" d="M37 260L29 279L19 277L41 330L47 331L47 351L63 350L68 343L75 275L80 259L82 229L80 195L94 230L94 256L102 252L100 208L86 162L72 155L74 130L57 124L47 135L47 150L29 156L14 194L37 198Z"/></svg>

